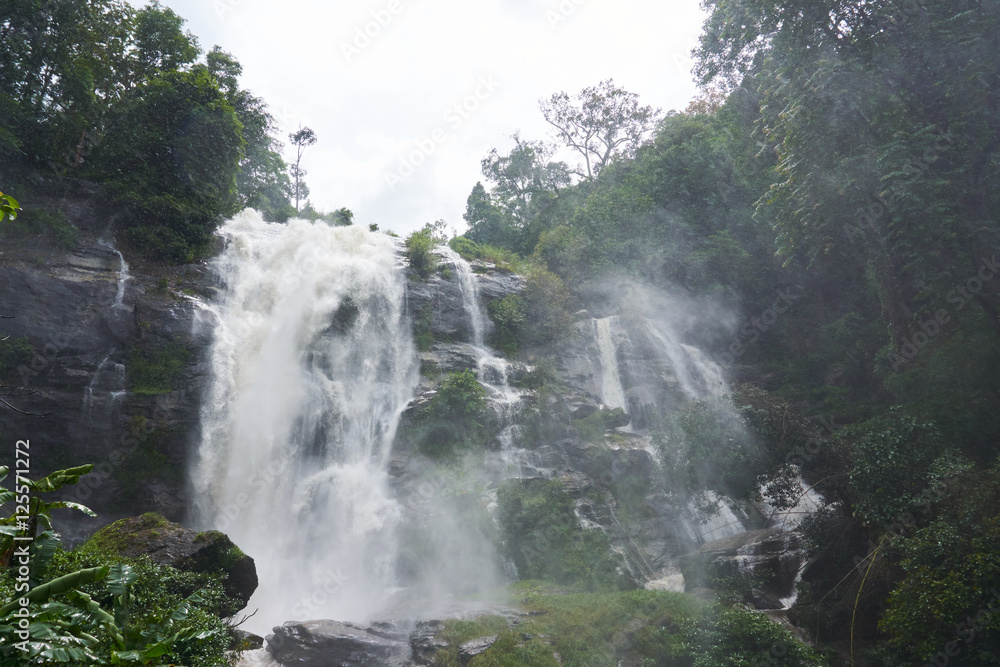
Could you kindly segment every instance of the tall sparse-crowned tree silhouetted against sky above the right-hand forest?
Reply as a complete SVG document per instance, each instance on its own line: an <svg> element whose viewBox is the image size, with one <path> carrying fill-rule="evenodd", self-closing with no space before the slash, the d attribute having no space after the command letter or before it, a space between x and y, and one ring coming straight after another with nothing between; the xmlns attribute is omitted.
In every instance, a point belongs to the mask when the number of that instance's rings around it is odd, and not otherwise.
<svg viewBox="0 0 1000 667"><path fill-rule="evenodd" d="M588 181L615 159L633 157L660 113L640 106L638 95L617 88L612 79L584 88L576 100L559 92L539 107L558 138L583 157L584 169L571 173Z"/></svg>

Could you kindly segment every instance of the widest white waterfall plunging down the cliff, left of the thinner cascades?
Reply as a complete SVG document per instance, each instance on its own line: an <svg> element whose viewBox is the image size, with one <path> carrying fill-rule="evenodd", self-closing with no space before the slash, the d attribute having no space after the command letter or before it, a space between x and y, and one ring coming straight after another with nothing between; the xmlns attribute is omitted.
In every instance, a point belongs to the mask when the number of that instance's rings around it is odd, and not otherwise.
<svg viewBox="0 0 1000 667"><path fill-rule="evenodd" d="M251 630L365 621L394 586L386 468L418 379L397 247L254 211L222 233L194 513L256 561Z"/></svg>

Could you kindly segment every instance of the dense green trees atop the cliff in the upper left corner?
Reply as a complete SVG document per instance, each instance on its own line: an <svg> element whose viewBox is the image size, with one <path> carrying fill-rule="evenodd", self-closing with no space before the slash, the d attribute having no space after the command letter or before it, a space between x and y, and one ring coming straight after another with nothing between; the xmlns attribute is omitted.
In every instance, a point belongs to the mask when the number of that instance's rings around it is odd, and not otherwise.
<svg viewBox="0 0 1000 667"><path fill-rule="evenodd" d="M303 215L351 223L347 209L324 214L305 201L309 142L299 132L290 137L293 188L274 118L239 87L240 63L218 46L199 60L197 38L171 9L13 3L0 32L0 167L24 207L3 233L75 244L75 230L41 218L55 212L36 208L51 193L33 185L33 172L104 184L126 213L119 231L129 248L173 263L205 256L219 222L246 207L283 221L301 200Z"/></svg>

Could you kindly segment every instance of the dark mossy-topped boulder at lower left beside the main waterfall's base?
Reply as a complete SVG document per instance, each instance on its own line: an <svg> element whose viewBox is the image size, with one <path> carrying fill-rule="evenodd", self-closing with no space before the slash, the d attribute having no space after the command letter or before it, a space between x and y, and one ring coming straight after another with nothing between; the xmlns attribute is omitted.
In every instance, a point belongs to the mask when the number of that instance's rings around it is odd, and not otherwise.
<svg viewBox="0 0 1000 667"><path fill-rule="evenodd" d="M225 534L199 533L150 512L121 519L94 534L87 546L129 558L149 556L160 565L224 575L226 595L246 606L257 589L257 568Z"/></svg>

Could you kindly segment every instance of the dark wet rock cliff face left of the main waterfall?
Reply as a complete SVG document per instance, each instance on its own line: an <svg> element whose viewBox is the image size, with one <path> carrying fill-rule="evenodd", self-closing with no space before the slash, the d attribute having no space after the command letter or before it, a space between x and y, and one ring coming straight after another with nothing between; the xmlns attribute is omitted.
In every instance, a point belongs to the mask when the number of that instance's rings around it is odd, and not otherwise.
<svg viewBox="0 0 1000 667"><path fill-rule="evenodd" d="M0 432L30 440L33 476L95 464L66 496L99 518L67 517L60 528L70 543L125 515L183 516L211 336L194 297L214 287L205 265L130 261L123 273L107 231L113 221L93 203L94 188L74 188L36 203L80 229L76 248L28 239L0 249L0 315L9 318L0 321L0 337L27 338L33 350L0 384L23 388L13 401L19 409L46 415L2 410ZM132 391L132 361L168 346L185 351L172 387Z"/></svg>

